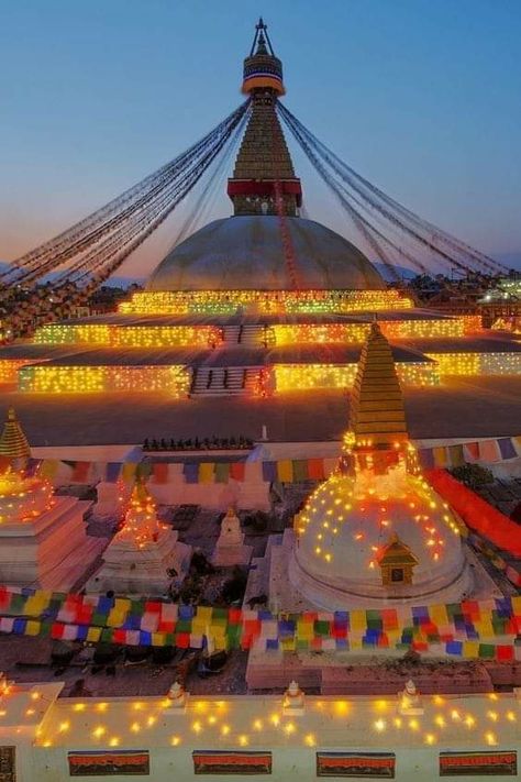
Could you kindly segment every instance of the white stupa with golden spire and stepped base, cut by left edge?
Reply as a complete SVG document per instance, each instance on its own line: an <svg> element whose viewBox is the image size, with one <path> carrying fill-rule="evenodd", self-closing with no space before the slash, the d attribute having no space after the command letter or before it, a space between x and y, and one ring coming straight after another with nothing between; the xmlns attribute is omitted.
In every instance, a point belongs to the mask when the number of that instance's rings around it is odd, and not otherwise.
<svg viewBox="0 0 521 782"><path fill-rule="evenodd" d="M0 437L0 582L66 591L104 541L87 537L84 518L91 503L57 497L48 481L25 475L30 456L11 407Z"/></svg>

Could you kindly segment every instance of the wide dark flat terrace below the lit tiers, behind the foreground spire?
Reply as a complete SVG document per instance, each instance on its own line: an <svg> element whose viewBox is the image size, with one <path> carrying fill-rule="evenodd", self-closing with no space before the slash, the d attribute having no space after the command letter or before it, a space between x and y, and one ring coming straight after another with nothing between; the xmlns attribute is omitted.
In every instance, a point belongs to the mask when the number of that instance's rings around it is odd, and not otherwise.
<svg viewBox="0 0 521 782"><path fill-rule="evenodd" d="M447 377L437 387L406 388L415 439L521 434L521 376ZM262 427L274 441L339 440L348 394L292 392L273 398L241 396L171 399L167 394L20 394L4 392L0 415L14 405L33 445L141 443L148 437L244 434Z"/></svg>

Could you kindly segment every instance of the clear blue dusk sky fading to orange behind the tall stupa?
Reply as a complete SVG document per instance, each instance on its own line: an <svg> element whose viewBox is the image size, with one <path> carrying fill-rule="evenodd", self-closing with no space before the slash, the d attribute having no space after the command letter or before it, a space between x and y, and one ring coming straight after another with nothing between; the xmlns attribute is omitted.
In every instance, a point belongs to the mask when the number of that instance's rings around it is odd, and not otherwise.
<svg viewBox="0 0 521 782"><path fill-rule="evenodd" d="M262 13L288 108L356 170L521 267L520 0L0 0L0 258L138 181L242 96ZM301 157L308 214L341 213ZM222 194L206 221L231 213ZM125 263L146 275L182 213Z"/></svg>

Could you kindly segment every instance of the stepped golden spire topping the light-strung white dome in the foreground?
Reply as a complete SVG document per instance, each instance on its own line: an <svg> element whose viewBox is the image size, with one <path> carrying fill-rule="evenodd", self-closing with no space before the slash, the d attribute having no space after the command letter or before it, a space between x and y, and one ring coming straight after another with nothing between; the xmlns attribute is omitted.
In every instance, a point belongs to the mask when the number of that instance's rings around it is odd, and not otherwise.
<svg viewBox="0 0 521 782"><path fill-rule="evenodd" d="M391 448L409 440L395 360L376 321L362 349L351 395L350 429L355 448Z"/></svg>

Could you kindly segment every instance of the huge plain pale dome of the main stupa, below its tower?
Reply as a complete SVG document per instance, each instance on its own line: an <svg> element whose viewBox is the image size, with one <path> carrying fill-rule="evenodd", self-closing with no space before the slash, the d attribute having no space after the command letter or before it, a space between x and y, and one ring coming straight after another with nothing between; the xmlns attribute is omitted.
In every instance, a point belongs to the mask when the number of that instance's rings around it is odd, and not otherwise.
<svg viewBox="0 0 521 782"><path fill-rule="evenodd" d="M383 289L385 282L351 242L325 225L286 218L299 282L311 289ZM273 216L214 220L178 244L147 290L288 290L280 222Z"/></svg>

